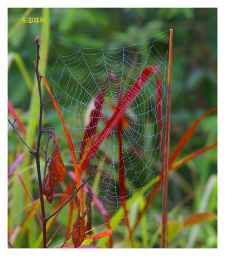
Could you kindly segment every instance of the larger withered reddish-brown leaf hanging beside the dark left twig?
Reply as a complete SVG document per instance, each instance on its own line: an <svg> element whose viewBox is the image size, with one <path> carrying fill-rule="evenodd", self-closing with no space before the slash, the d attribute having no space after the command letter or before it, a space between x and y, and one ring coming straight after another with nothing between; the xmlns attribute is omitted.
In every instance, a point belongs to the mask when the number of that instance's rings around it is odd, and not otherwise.
<svg viewBox="0 0 225 256"><path fill-rule="evenodd" d="M54 148L50 165L48 166L48 174L43 185L43 194L46 196L49 203L53 199L54 186L62 182L65 178L65 166L59 152L58 143L54 133L52 133Z"/></svg>

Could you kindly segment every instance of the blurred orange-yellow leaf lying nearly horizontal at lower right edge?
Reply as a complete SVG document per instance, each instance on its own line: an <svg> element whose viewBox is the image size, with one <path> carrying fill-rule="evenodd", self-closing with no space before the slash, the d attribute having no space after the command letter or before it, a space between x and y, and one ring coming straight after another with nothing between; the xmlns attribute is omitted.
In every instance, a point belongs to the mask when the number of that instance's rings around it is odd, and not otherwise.
<svg viewBox="0 0 225 256"><path fill-rule="evenodd" d="M204 222L209 222L209 220L217 219L217 215L212 212L202 212L202 213L196 213L192 214L188 218L186 218L183 222L183 226L191 226L196 224L201 224Z"/></svg>

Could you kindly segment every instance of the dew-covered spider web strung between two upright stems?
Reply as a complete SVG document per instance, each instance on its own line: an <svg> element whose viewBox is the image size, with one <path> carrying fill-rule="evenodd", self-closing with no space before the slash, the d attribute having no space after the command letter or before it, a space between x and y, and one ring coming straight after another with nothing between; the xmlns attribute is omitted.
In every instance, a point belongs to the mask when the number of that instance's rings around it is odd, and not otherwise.
<svg viewBox="0 0 225 256"><path fill-rule="evenodd" d="M157 112L160 103L165 107L166 100L168 31L121 48L89 49L48 41L52 46L52 56L56 58L48 74L54 95L60 95L57 102L74 143L78 166L86 159L86 153L112 117L119 98L123 101L145 68L149 65L159 67L161 102L157 102L155 72L152 72L123 115L121 136L126 199L129 202L132 195L161 171L163 129L160 129ZM95 104L99 106L95 116L98 119L95 122L96 131L87 138L84 134ZM83 151L82 143L86 143ZM82 170L82 177L85 178L94 165L98 167L94 178L89 181L89 187L108 212L116 211L124 197L121 196L118 182L120 161L115 125ZM149 193L150 185L143 195L148 196Z"/></svg>

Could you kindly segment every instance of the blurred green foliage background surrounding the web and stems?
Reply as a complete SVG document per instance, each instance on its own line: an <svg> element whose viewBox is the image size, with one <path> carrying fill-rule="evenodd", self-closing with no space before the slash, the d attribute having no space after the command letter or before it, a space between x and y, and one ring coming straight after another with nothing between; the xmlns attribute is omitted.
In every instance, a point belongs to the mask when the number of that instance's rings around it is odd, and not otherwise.
<svg viewBox="0 0 225 256"><path fill-rule="evenodd" d="M217 9L216 8L35 8L26 17L46 17L46 24L22 24L21 18L26 8L8 9L8 97L19 112L25 125L31 132L30 141L34 139L35 125L31 125L32 103L29 91L29 79L22 75L12 53L19 53L32 83L36 49L34 39L45 33L45 36L62 43L87 48L114 48L130 45L173 28L173 71L172 71L172 113L171 113L171 150L183 136L187 128L206 110L217 106ZM46 16L47 15L47 16ZM18 22L18 23L17 23ZM17 26L17 25L18 26ZM15 30L14 30L15 28ZM13 29L13 30L12 30ZM49 29L49 32L48 32ZM166 43L164 46L167 46ZM47 56L47 66L51 70L54 62ZM42 73L43 73L42 72ZM24 72L23 72L24 73ZM27 86L26 86L27 84ZM31 85L32 87L32 85ZM46 91L44 95L47 99ZM35 117L35 111L32 112ZM36 112L37 113L37 112ZM44 125L54 125L59 143L65 146L58 115L52 104L45 107ZM61 136L61 137L60 137ZM9 127L9 166L15 160L18 151L18 140ZM185 147L183 156L209 145L217 139L217 116L211 114L199 125L194 136ZM62 147L63 147L62 146ZM62 150L63 151L63 150ZM68 154L68 150L62 154ZM191 160L187 165L175 171L169 180L168 211L171 211L185 196L198 191L179 215L189 216L200 211L217 212L217 185L210 190L207 203L204 205L203 193L210 182L216 181L217 148ZM208 187L207 187L208 184ZM205 187L203 187L205 186ZM200 190L199 190L200 189ZM34 193L34 195L37 195ZM10 198L10 195L9 195ZM35 197L36 198L36 197ZM161 194L154 202L153 211L161 211ZM148 216L149 221L153 217ZM18 222L20 223L20 219ZM157 225L149 227L154 232ZM139 229L138 229L139 230ZM141 240L137 230L137 240ZM122 232L120 230L118 232ZM184 233L184 234L183 234ZM217 226L215 222L200 226L199 230L188 229L179 238L175 238L171 247L217 247ZM195 235L194 235L195 234ZM194 237L194 240L192 241ZM148 237L146 246L151 240ZM156 247L157 243L156 240ZM32 241L31 241L32 243ZM118 247L121 246L118 242Z"/></svg>

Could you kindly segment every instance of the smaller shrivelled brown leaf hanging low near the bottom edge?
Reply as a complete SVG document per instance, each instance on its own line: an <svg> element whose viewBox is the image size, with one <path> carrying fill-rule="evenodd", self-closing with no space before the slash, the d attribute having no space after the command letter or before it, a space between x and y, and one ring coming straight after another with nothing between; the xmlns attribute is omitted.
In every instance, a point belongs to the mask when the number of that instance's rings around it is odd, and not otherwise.
<svg viewBox="0 0 225 256"><path fill-rule="evenodd" d="M80 201L78 197L75 197L76 205L77 205L77 210L78 210L78 215L77 215L77 220L72 225L72 242L74 243L74 247L77 248L78 246L81 245L81 243L84 240L85 237L85 228L84 228L84 220L80 216Z"/></svg>

